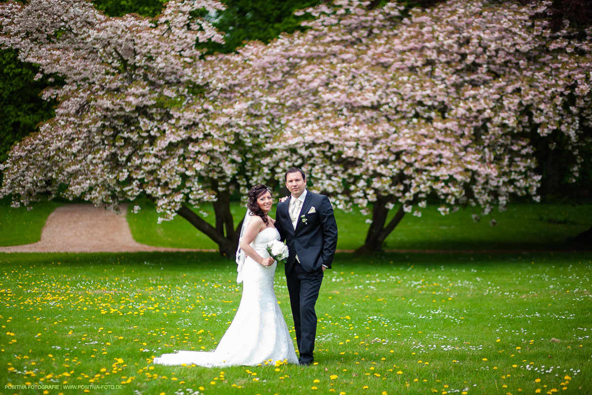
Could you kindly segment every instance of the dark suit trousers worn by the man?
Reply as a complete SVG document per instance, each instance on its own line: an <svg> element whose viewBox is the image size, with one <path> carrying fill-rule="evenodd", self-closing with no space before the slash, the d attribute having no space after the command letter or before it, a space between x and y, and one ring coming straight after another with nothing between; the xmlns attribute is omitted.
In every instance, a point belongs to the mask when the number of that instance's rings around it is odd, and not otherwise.
<svg viewBox="0 0 592 395"><path fill-rule="evenodd" d="M296 260L286 281L292 316L294 316L296 343L300 354L298 360L310 364L314 361L314 338L317 333L317 313L314 306L317 303L321 282L323 282L323 268L307 272Z"/></svg>

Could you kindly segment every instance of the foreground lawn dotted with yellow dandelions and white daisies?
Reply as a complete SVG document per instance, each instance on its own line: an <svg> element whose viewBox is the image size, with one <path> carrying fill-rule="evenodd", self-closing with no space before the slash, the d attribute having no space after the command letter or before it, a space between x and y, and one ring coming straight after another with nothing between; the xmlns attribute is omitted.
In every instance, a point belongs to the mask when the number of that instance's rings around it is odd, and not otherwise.
<svg viewBox="0 0 592 395"><path fill-rule="evenodd" d="M2 393L592 393L585 253L338 254L317 303L318 364L224 369L152 364L213 349L229 326L242 285L217 253L0 265ZM291 325L282 268L275 290Z"/></svg>

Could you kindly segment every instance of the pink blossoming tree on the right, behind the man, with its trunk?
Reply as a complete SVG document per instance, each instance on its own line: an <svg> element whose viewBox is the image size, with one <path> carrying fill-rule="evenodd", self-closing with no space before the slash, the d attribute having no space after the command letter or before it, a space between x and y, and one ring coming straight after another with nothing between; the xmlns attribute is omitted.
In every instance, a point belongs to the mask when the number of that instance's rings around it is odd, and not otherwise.
<svg viewBox="0 0 592 395"><path fill-rule="evenodd" d="M338 207L371 209L359 251L381 249L430 195L442 214L538 200L533 134L561 139L577 177L592 120L589 29L551 30L543 1L452 0L408 17L370 5L309 9L310 30L243 51L269 76L285 126L269 163L299 158Z"/></svg>

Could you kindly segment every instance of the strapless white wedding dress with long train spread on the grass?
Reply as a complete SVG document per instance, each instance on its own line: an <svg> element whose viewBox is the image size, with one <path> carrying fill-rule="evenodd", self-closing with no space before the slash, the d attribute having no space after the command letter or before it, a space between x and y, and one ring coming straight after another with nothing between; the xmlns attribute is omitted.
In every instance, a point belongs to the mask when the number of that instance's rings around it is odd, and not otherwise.
<svg viewBox="0 0 592 395"><path fill-rule="evenodd" d="M274 227L263 229L250 246L268 258L266 246L279 240ZM253 259L244 260L242 268L243 296L232 323L214 351L179 351L155 358L155 364L195 364L204 367L256 366L287 361L298 364L294 343L274 292L274 274L278 262L262 266Z"/></svg>

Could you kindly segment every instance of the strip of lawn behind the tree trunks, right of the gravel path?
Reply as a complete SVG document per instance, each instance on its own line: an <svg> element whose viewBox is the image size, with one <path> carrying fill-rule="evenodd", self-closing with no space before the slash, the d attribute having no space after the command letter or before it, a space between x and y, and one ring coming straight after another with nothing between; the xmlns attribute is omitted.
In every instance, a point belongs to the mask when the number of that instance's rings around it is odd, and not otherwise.
<svg viewBox="0 0 592 395"><path fill-rule="evenodd" d="M131 233L140 243L175 248L216 249L217 246L188 221L175 217L158 224L158 213L152 203L143 200L138 214L128 212ZM206 220L213 221L213 211L205 206ZM239 203L231 206L236 223L244 216ZM465 208L442 216L435 206L423 210L422 217L407 214L387 238L387 249L569 249L568 238L592 226L592 204L512 204L507 211L497 211L475 223L471 214L475 208ZM275 216L275 209L271 214ZM391 213L394 215L394 213ZM335 211L339 238L337 248L356 249L362 245L368 230L359 211ZM491 226L490 220L497 225ZM213 222L211 222L213 223Z"/></svg>

